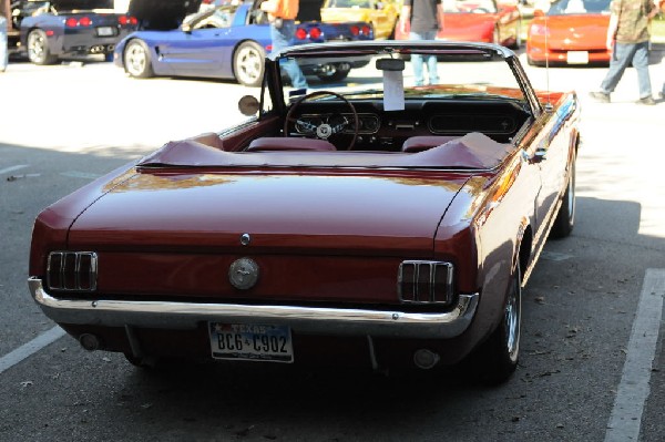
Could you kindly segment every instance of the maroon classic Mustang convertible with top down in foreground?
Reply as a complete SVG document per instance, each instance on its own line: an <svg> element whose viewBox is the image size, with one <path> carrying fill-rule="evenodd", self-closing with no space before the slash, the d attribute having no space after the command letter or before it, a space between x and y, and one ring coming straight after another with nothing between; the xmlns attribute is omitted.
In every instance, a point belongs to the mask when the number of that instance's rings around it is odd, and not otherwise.
<svg viewBox="0 0 665 442"><path fill-rule="evenodd" d="M408 55L440 84L410 86ZM368 61L291 90L282 59ZM321 86L325 84L325 89ZM266 60L250 119L172 141L45 208L29 287L88 350L507 380L522 287L574 224L580 106L500 45L340 42Z"/></svg>

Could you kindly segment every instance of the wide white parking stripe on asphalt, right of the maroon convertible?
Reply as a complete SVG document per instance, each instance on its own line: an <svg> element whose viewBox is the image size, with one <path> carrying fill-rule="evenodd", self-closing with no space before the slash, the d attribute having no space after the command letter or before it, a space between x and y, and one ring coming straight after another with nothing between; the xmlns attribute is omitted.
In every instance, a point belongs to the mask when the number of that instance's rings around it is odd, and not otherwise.
<svg viewBox="0 0 665 442"><path fill-rule="evenodd" d="M652 363L663 316L663 297L665 269L646 269L605 442L637 441L640 438L642 412L649 393Z"/></svg>

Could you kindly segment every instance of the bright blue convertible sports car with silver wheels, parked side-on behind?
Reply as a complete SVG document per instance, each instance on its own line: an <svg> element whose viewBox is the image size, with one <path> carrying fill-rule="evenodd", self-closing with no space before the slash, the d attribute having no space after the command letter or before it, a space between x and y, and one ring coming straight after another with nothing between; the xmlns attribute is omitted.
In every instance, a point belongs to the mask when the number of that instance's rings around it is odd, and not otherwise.
<svg viewBox="0 0 665 442"><path fill-rule="evenodd" d="M259 3L260 0L215 6L184 20L184 14L166 18L164 9L156 18L155 9L145 8L142 12L130 7L130 13L141 20L145 30L133 32L115 47L114 63L135 78L233 79L243 85L258 86L264 76L264 59L272 50L269 24ZM181 8L180 13L186 11ZM297 25L291 44L350 40L374 40L374 29L366 22L306 21ZM339 81L351 68L364 63L358 60L301 68L306 75Z"/></svg>

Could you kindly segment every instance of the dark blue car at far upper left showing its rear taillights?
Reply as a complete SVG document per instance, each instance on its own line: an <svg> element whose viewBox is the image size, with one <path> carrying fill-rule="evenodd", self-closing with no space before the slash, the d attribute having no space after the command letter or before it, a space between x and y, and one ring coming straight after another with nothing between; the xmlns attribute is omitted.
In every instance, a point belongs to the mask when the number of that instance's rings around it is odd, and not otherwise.
<svg viewBox="0 0 665 442"><path fill-rule="evenodd" d="M70 55L111 56L115 43L137 25L134 17L115 12L112 0L19 0L12 6L20 48L34 64Z"/></svg>

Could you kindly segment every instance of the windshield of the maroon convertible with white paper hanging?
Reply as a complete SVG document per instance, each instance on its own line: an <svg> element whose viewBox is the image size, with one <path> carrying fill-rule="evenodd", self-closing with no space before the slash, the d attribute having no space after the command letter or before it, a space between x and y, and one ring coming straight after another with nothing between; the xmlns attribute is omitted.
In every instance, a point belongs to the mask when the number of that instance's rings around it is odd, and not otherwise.
<svg viewBox="0 0 665 442"><path fill-rule="evenodd" d="M411 51L409 51L411 52ZM415 52L415 51L413 51ZM525 101L510 65L500 56L475 53L433 55L434 75L428 75L428 63L422 65L422 84L413 64L418 53L369 54L348 56L316 56L296 60L307 80L306 92L332 91L347 99L382 100L386 109L400 110L410 100L510 100ZM427 58L427 55L424 55ZM383 65L383 60L397 64ZM426 59L427 60L427 59ZM282 65L284 66L285 61ZM401 63L401 64L400 64ZM294 90L283 69L285 96L291 100L305 91Z"/></svg>

